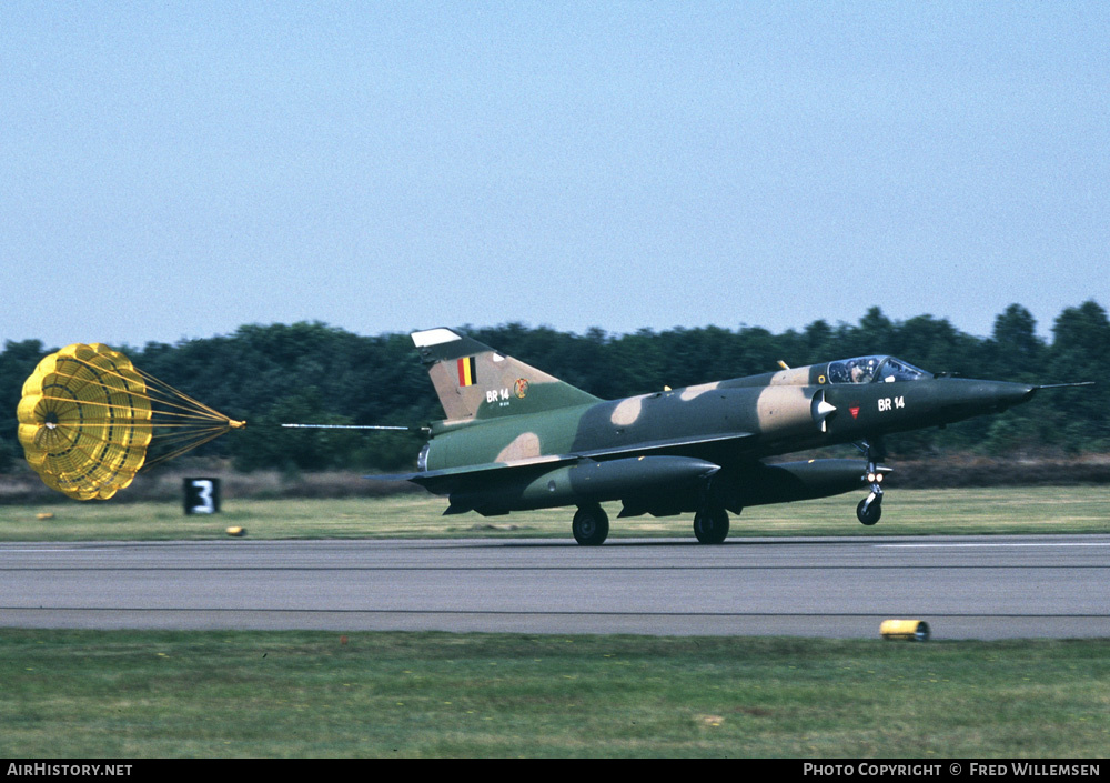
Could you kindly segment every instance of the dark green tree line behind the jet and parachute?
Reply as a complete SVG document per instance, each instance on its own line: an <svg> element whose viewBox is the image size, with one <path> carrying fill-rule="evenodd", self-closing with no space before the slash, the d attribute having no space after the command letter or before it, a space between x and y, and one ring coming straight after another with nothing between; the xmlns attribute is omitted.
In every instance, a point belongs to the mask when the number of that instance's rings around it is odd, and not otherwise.
<svg viewBox="0 0 1110 783"><path fill-rule="evenodd" d="M1020 304L995 319L989 338L948 320L918 315L892 321L875 307L849 324L814 321L773 334L758 327L644 329L584 334L508 323L462 331L603 399L677 389L768 372L778 361L799 367L889 353L931 372L968 378L1061 383L1096 381L1110 367L1110 320L1093 300L1067 308L1051 339ZM23 381L58 347L7 341L0 353L0 472L22 470L16 406ZM407 334L364 337L320 322L244 325L234 333L176 344L113 347L155 378L248 421L199 453L231 460L242 471L407 470L421 440L397 432L290 430L282 423L420 425L443 411ZM944 431L889 439L891 456L962 451L991 455L1110 452L1110 412L1099 387L1038 395L1002 416Z"/></svg>

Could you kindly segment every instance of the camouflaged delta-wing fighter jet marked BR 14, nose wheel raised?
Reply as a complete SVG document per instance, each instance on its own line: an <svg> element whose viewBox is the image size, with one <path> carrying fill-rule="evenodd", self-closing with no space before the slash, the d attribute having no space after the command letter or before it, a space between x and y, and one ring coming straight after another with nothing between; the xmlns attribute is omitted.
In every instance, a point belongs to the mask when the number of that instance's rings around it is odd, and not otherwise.
<svg viewBox="0 0 1110 783"><path fill-rule="evenodd" d="M871 355L606 401L451 329L412 339L446 419L425 428L417 472L367 478L446 495L445 514L576 505L572 531L585 545L608 535L609 501L622 518L693 512L710 544L744 506L867 489L856 515L875 524L886 434L998 413L1046 388ZM866 458L763 462L839 443Z"/></svg>

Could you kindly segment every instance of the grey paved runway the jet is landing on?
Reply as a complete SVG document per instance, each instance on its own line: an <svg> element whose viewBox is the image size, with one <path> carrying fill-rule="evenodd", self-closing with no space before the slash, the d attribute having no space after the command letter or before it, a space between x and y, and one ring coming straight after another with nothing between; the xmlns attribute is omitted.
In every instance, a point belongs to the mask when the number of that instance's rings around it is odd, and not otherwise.
<svg viewBox="0 0 1110 783"><path fill-rule="evenodd" d="M1110 636L1110 535L0 544L0 626Z"/></svg>

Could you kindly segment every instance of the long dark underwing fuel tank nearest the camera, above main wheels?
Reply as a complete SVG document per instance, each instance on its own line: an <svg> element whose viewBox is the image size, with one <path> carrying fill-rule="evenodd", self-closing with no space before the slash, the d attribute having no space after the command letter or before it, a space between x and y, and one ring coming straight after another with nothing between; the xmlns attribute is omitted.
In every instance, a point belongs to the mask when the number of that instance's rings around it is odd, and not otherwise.
<svg viewBox="0 0 1110 783"><path fill-rule="evenodd" d="M719 470L719 465L693 456L630 456L601 462L584 459L511 484L452 493L451 505L444 513L477 511L493 515L599 503L647 491L683 492Z"/></svg>

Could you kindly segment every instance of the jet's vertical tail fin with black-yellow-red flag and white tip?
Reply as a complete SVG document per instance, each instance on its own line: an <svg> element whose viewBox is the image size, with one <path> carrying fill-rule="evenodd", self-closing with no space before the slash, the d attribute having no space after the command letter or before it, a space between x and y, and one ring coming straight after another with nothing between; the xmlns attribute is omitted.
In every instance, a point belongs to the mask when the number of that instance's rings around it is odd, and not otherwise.
<svg viewBox="0 0 1110 783"><path fill-rule="evenodd" d="M448 421L493 419L601 400L451 329L413 332Z"/></svg>

